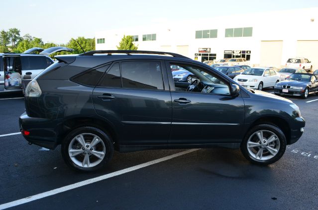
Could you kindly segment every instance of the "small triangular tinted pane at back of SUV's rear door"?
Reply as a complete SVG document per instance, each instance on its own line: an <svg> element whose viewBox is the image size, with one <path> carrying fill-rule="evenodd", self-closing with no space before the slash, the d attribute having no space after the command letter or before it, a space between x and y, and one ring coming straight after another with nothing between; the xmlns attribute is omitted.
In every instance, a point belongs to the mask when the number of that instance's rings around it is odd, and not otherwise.
<svg viewBox="0 0 318 210"><path fill-rule="evenodd" d="M119 63L114 64L102 79L99 86L121 87Z"/></svg>

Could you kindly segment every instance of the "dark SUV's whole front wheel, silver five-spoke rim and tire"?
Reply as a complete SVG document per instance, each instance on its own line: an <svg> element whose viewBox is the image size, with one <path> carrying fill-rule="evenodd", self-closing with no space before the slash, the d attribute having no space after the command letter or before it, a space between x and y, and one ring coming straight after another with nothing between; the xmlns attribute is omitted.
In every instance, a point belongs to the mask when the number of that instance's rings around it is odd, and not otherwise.
<svg viewBox="0 0 318 210"><path fill-rule="evenodd" d="M286 137L272 124L253 127L241 142L241 151L253 163L268 165L278 161L286 150Z"/></svg>

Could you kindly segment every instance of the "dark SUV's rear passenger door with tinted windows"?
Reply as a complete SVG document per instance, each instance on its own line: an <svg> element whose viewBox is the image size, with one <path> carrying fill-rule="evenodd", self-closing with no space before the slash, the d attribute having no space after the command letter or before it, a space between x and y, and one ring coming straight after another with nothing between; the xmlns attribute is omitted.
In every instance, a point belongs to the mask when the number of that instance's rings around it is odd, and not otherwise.
<svg viewBox="0 0 318 210"><path fill-rule="evenodd" d="M165 71L158 60L118 61L95 87L95 110L119 131L120 145L167 144L172 104Z"/></svg>

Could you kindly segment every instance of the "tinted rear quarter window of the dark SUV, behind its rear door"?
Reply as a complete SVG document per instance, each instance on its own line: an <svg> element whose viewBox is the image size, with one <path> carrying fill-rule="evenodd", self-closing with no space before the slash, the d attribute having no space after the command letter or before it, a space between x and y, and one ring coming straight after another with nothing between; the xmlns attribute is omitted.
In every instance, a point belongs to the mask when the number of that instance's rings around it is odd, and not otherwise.
<svg viewBox="0 0 318 210"><path fill-rule="evenodd" d="M98 69L85 71L84 73L74 76L71 80L83 85L96 86L108 67L109 65L106 65Z"/></svg>

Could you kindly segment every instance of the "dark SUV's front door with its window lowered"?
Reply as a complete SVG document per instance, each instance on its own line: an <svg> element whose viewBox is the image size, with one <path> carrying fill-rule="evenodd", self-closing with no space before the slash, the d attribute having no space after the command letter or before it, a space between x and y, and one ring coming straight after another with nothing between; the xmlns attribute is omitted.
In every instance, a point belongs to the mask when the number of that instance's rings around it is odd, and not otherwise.
<svg viewBox="0 0 318 210"><path fill-rule="evenodd" d="M214 92L182 91L175 87L170 65L176 64L187 70L204 72L207 79L214 83ZM230 81L220 76L212 69L188 62L167 61L166 68L169 77L172 97L172 125L169 144L210 144L240 142L244 124L245 109L241 96L232 97L222 94L223 88L229 93ZM194 73L194 72L192 72ZM221 74L221 73L220 73ZM195 75L197 75L195 73ZM177 84L177 83L176 83ZM177 84L178 85L178 84ZM188 86L189 84L187 84Z"/></svg>

